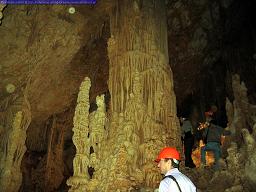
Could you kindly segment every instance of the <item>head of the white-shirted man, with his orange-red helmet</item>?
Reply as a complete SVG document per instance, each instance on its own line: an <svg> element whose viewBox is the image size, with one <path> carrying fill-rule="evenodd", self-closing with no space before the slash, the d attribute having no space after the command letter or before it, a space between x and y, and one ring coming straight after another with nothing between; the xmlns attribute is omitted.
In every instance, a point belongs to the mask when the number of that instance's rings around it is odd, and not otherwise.
<svg viewBox="0 0 256 192"><path fill-rule="evenodd" d="M161 174L166 174L173 168L179 168L180 154L176 148L165 147L163 148L155 162L158 163Z"/></svg>

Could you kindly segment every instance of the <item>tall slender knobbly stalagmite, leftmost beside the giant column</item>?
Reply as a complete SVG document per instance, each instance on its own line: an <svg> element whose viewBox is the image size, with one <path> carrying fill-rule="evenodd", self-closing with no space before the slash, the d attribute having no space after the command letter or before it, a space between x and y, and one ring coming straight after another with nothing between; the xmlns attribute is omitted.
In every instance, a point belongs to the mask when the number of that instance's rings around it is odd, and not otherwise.
<svg viewBox="0 0 256 192"><path fill-rule="evenodd" d="M90 155L90 145L88 139L90 87L91 81L88 77L86 77L80 86L74 116L74 134L72 140L76 146L76 155L73 160L74 175L67 181L67 184L71 186L69 189L70 192L86 191L86 185L89 179L87 166L89 165Z"/></svg>

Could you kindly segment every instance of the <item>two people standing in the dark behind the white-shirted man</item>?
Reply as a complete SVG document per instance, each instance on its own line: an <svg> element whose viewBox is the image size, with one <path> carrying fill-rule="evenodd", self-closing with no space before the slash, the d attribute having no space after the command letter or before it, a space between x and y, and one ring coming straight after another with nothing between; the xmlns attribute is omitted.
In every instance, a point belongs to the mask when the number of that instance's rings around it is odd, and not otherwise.
<svg viewBox="0 0 256 192"><path fill-rule="evenodd" d="M209 111L204 113L205 122L199 123L199 114L197 110L192 110L188 119L182 119L182 140L185 154L185 166L195 168L192 159L192 151L199 147L200 140L204 145L201 147L201 166L206 166L206 152L211 151L214 155L214 169L219 169L219 160L221 158L221 137L230 135L230 131L219 126L216 121L217 107L211 106Z"/></svg>

